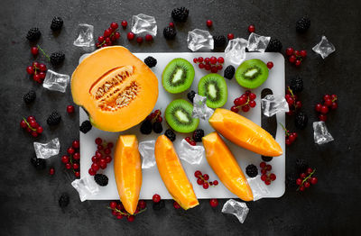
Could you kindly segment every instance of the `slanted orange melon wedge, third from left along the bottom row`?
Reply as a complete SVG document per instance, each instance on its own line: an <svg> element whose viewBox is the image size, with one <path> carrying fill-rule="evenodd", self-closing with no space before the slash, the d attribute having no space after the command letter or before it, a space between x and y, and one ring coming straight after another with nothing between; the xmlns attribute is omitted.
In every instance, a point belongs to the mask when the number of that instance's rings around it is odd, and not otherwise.
<svg viewBox="0 0 361 236"><path fill-rule="evenodd" d="M202 141L208 164L223 185L242 200L252 201L254 195L251 187L248 185L247 179L232 152L218 133L211 132L203 137Z"/></svg>

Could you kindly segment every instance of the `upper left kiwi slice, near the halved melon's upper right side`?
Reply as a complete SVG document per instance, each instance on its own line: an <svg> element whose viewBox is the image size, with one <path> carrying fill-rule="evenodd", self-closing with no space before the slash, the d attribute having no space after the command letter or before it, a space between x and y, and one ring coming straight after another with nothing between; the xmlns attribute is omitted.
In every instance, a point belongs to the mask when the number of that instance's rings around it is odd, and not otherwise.
<svg viewBox="0 0 361 236"><path fill-rule="evenodd" d="M162 85L171 94L179 94L190 88L194 68L186 59L172 59L162 73Z"/></svg>

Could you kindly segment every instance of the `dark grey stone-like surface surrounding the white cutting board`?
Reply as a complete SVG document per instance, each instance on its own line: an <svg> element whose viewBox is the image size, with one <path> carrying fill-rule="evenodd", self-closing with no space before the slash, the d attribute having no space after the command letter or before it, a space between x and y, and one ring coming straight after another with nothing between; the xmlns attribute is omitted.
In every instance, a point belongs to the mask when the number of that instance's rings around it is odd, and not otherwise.
<svg viewBox="0 0 361 236"><path fill-rule="evenodd" d="M336 235L357 234L360 222L360 2L359 1L11 1L3 0L0 7L0 101L1 101L1 170L0 170L0 229L1 235ZM337 3L332 4L331 2ZM184 5L190 8L187 23L177 24L175 41L162 37L162 28L171 21L171 9ZM34 139L19 127L22 116L34 114L44 127L37 141L59 137L64 153L71 141L79 137L78 114L69 116L66 105L71 104L70 90L61 94L37 85L26 75L32 63L30 46L25 40L32 26L42 30L40 44L48 51L64 50L66 60L58 70L71 74L78 64L81 50L72 46L74 29L78 23L95 26L96 37L108 24L123 19L131 22L133 14L156 17L158 36L153 43L138 46L126 40L125 32L119 44L136 52L189 51L187 32L206 29L211 19L213 34L234 32L236 37L248 37L247 26L255 24L256 32L279 38L283 50L288 46L308 50L309 56L301 68L286 62L286 77L301 75L305 90L301 101L310 116L307 129L299 132L298 140L287 149L287 172L291 172L297 158L309 160L317 168L319 184L304 193L287 189L278 199L264 199L249 203L250 213L245 223L236 217L220 213L225 200L212 209L207 200L187 212L175 210L172 202L154 212L150 207L137 216L135 222L116 220L106 209L107 201L80 203L79 195L70 186L74 178L53 158L48 167L56 169L55 176L48 168L37 172L30 164ZM299 35L295 22L303 14L311 19L309 32ZM64 19L58 36L50 30L53 16ZM129 30L129 28L128 28ZM337 51L323 60L311 51L325 34ZM45 61L43 57L38 60ZM45 61L47 62L47 61ZM47 65L49 63L47 62ZM49 65L49 68L51 66ZM36 90L32 105L23 103L23 94ZM311 122L316 121L313 107L324 93L339 97L339 108L329 115L327 125L335 141L324 147L313 143ZM49 129L46 118L53 109L62 114L59 127ZM287 125L293 130L293 120ZM70 195L65 210L58 206L62 192ZM151 202L147 202L151 205Z"/></svg>

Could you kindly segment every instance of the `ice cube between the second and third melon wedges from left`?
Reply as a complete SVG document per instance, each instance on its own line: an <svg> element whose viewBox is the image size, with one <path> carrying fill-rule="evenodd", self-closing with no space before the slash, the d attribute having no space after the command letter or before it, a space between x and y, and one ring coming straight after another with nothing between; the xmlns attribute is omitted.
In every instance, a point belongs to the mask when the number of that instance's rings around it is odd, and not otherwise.
<svg viewBox="0 0 361 236"><path fill-rule="evenodd" d="M184 159L190 165L198 165L205 155L203 146L192 146L184 139L180 141L180 149L177 150L177 153L180 159Z"/></svg>

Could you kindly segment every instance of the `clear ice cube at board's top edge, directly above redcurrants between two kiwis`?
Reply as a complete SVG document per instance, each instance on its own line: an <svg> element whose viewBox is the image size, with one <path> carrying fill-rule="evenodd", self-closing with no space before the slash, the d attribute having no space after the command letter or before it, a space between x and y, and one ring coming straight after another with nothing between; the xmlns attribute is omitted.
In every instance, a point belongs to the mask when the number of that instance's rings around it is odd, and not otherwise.
<svg viewBox="0 0 361 236"><path fill-rule="evenodd" d="M200 49L213 50L214 48L213 37L208 31L194 29L188 32L187 42L188 48L192 51Z"/></svg>

